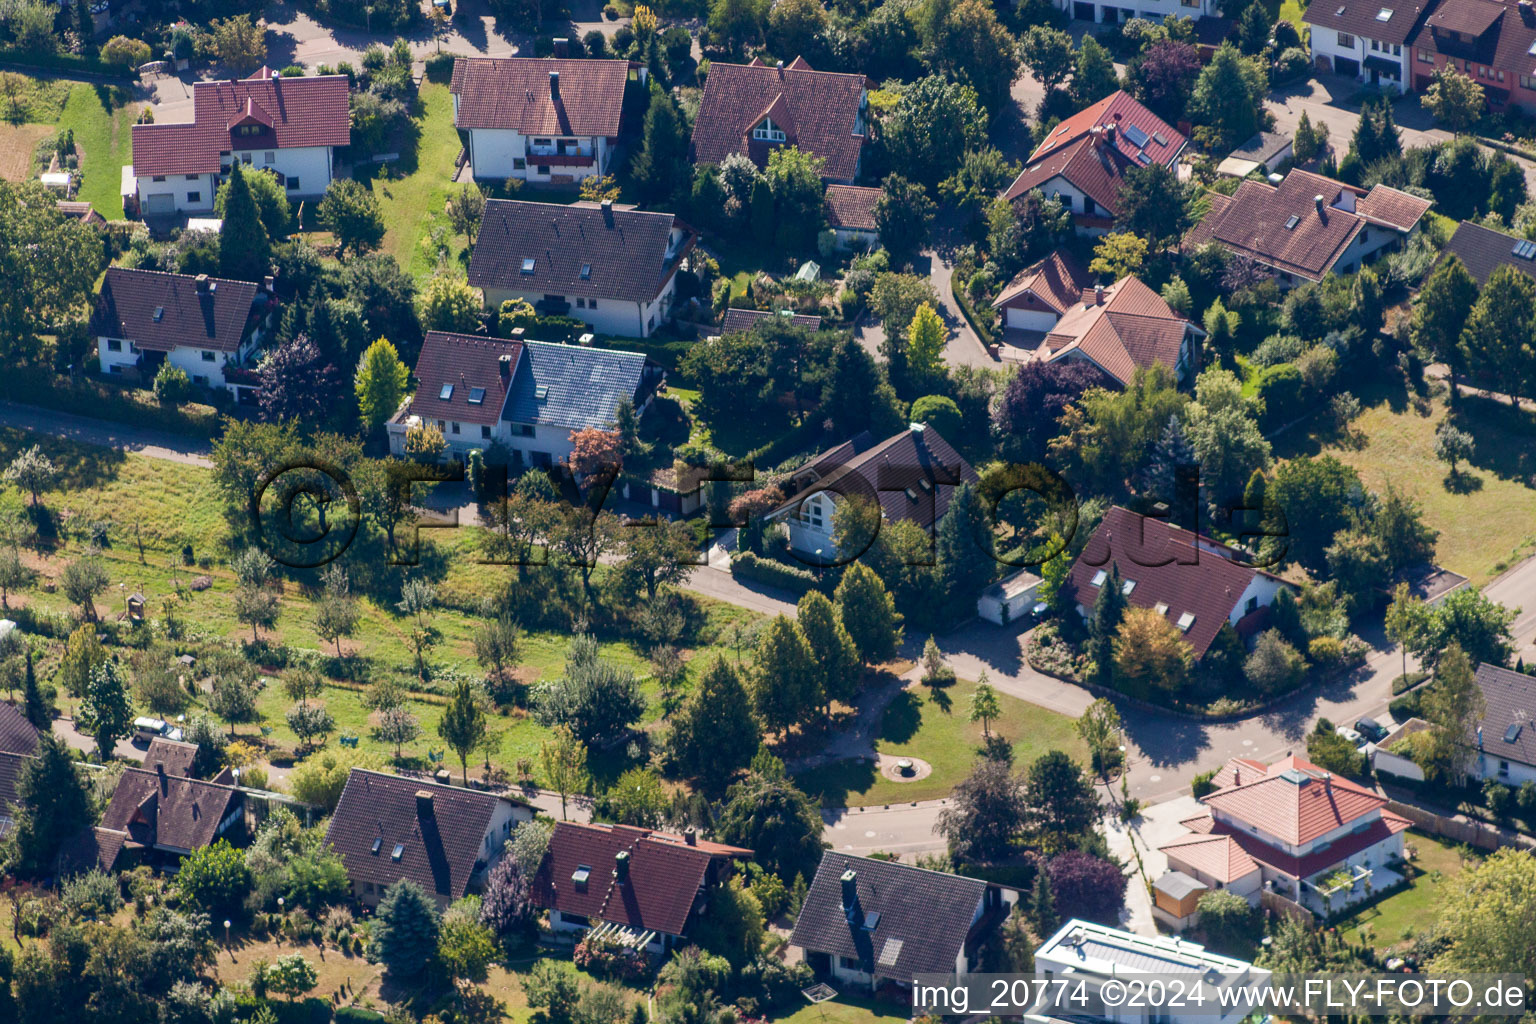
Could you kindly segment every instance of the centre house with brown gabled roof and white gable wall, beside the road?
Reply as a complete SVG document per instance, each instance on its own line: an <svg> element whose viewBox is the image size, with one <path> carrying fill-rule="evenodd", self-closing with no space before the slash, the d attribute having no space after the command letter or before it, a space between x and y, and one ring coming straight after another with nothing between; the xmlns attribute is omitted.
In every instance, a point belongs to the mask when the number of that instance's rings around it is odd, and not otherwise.
<svg viewBox="0 0 1536 1024"><path fill-rule="evenodd" d="M911 424L879 444L865 431L796 470L791 497L765 520L782 522L790 547L802 556L829 563L848 554L833 542L842 502L863 499L880 508L883 522L932 530L949 510L955 487L978 481L971 464L932 427Z"/></svg>

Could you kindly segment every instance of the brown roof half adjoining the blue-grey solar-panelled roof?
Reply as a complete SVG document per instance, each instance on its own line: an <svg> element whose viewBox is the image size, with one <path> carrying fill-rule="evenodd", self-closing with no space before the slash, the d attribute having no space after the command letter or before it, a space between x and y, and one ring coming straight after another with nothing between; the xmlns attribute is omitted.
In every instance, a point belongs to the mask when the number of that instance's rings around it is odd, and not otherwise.
<svg viewBox="0 0 1536 1024"><path fill-rule="evenodd" d="M501 375L502 356L508 356L507 378ZM429 330L416 358L418 384L410 411L422 419L495 427L521 359L519 341ZM473 402L476 391L481 401Z"/></svg>

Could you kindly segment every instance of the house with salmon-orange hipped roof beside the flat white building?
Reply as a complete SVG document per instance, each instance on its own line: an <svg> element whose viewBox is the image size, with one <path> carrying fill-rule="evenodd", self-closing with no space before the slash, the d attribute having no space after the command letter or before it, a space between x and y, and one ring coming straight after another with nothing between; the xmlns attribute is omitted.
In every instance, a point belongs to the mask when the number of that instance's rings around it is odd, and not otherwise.
<svg viewBox="0 0 1536 1024"><path fill-rule="evenodd" d="M1255 906L1270 887L1321 915L1402 878L1395 864L1409 821L1375 791L1295 755L1232 758L1215 785L1201 798L1207 814L1181 821L1189 834L1158 847L1170 870Z"/></svg>

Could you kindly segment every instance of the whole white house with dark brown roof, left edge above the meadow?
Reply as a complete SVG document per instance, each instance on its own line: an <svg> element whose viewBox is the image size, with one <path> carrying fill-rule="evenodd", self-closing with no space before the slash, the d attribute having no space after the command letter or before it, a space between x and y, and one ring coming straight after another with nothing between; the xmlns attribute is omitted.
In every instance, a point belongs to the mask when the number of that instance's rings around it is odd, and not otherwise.
<svg viewBox="0 0 1536 1024"><path fill-rule="evenodd" d="M255 356L275 310L267 287L250 281L111 267L92 321L101 372L147 382L169 362L194 384L250 404L260 387Z"/></svg>

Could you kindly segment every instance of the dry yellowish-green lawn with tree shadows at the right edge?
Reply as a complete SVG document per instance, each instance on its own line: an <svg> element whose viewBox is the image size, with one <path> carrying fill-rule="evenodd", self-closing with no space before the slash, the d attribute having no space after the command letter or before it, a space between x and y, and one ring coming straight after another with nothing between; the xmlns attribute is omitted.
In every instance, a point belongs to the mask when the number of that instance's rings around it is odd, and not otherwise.
<svg viewBox="0 0 1536 1024"><path fill-rule="evenodd" d="M1445 416L1444 388L1433 399L1404 393L1401 384L1373 384L1358 398L1364 411L1352 424L1362 444L1335 436L1322 418L1301 424L1275 442L1275 454L1327 453L1355 467L1366 487L1389 484L1424 507L1439 530L1436 562L1487 583L1536 540L1536 418L1507 402L1462 399L1456 424L1476 441L1471 465L1459 481L1435 457L1435 427Z"/></svg>

